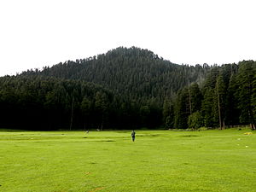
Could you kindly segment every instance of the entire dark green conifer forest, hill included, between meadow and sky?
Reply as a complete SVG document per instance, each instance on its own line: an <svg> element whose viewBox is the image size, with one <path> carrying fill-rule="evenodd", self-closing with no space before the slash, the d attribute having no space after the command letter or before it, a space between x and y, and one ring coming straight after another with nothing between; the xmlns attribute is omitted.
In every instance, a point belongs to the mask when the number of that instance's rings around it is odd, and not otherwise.
<svg viewBox="0 0 256 192"><path fill-rule="evenodd" d="M165 61L147 49L120 47L0 78L0 126L32 130L253 127L255 75L255 61L189 67Z"/></svg>

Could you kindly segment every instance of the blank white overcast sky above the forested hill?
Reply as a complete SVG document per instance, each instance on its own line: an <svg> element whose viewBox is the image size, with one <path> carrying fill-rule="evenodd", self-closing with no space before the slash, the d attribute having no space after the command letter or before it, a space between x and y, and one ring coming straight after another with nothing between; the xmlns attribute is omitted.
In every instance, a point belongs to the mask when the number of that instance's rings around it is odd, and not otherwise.
<svg viewBox="0 0 256 192"><path fill-rule="evenodd" d="M177 64L256 60L254 0L1 0L0 76L150 49Z"/></svg>

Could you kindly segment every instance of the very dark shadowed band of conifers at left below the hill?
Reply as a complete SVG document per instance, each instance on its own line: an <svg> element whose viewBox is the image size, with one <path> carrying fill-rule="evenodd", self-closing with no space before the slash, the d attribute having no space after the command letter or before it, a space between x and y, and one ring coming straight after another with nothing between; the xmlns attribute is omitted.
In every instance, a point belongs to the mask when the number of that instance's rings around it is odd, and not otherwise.
<svg viewBox="0 0 256 192"><path fill-rule="evenodd" d="M52 77L0 78L0 126L27 130L128 129L160 125L154 101L125 101L101 85Z"/></svg>

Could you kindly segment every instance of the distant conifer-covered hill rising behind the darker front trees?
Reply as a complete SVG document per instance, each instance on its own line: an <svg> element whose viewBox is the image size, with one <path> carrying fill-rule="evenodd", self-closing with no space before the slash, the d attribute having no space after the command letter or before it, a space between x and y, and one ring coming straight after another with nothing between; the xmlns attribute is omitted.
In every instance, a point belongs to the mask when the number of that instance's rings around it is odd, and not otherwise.
<svg viewBox="0 0 256 192"><path fill-rule="evenodd" d="M79 79L101 84L125 100L162 103L166 96L192 82L205 79L211 67L177 65L163 60L148 49L119 47L106 54L77 61L66 61L43 71L21 75L44 75L61 79Z"/></svg>

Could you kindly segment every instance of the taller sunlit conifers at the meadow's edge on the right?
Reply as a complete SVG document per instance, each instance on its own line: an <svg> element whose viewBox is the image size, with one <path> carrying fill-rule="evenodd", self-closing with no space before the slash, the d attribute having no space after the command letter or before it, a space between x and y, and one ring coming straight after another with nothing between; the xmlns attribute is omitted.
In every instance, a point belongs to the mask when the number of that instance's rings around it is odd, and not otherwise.
<svg viewBox="0 0 256 192"><path fill-rule="evenodd" d="M251 125L255 130L256 62L213 67L203 84L189 84L166 98L163 116L167 128Z"/></svg>

